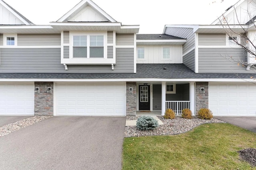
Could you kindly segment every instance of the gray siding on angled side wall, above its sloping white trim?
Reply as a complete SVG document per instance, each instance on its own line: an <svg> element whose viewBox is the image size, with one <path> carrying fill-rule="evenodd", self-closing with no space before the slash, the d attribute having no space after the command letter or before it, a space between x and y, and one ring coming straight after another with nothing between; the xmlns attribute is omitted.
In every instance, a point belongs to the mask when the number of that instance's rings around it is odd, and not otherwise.
<svg viewBox="0 0 256 170"><path fill-rule="evenodd" d="M195 47L195 34L193 28L167 27L165 34L186 39L183 45L183 54Z"/></svg>

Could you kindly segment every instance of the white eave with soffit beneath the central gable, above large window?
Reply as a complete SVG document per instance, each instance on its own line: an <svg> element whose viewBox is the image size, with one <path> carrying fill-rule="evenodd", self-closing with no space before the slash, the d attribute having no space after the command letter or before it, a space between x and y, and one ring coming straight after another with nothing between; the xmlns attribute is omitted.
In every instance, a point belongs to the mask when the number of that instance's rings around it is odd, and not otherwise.
<svg viewBox="0 0 256 170"><path fill-rule="evenodd" d="M120 22L50 22L59 31L116 31L116 33L138 33L140 25L121 25Z"/></svg>

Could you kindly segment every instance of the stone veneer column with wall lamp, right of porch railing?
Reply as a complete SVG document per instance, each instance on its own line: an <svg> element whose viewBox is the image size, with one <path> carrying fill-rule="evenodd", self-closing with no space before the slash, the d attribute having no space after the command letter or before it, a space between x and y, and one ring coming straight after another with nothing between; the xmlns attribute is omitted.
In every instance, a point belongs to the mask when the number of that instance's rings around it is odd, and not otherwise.
<svg viewBox="0 0 256 170"><path fill-rule="evenodd" d="M208 82L196 82L196 115L201 108L209 107L209 88ZM201 87L204 87L205 93L201 93Z"/></svg>

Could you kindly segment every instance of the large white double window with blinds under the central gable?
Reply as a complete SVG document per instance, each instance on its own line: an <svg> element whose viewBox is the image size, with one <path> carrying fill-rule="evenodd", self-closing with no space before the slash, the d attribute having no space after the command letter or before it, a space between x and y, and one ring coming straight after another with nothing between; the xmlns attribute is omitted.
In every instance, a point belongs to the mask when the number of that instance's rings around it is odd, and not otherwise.
<svg viewBox="0 0 256 170"><path fill-rule="evenodd" d="M73 35L73 58L104 58L104 35Z"/></svg>

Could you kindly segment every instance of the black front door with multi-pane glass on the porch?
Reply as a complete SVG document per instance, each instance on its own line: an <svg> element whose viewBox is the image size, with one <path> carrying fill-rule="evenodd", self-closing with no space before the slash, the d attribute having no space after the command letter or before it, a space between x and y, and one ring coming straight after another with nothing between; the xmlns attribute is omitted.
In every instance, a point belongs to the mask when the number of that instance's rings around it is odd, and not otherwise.
<svg viewBox="0 0 256 170"><path fill-rule="evenodd" d="M150 85L139 86L139 110L150 110Z"/></svg>

